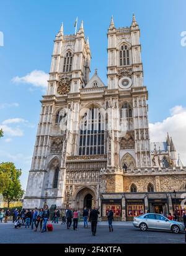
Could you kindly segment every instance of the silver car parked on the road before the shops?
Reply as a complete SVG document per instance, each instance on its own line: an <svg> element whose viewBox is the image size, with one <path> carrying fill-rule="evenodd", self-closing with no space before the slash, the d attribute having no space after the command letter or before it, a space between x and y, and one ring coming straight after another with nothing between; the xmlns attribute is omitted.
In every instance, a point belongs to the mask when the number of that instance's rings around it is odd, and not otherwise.
<svg viewBox="0 0 186 256"><path fill-rule="evenodd" d="M147 229L170 230L175 234L185 230L182 222L169 220L161 214L148 213L139 217L134 217L133 225L139 227L142 231Z"/></svg>

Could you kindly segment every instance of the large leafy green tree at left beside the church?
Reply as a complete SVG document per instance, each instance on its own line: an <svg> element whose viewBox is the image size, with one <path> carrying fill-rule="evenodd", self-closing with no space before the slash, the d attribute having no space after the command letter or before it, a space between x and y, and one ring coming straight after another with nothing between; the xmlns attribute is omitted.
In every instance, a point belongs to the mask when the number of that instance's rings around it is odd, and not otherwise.
<svg viewBox="0 0 186 256"><path fill-rule="evenodd" d="M0 173L6 177L4 178L5 187L2 191L2 196L9 207L11 201L18 201L24 195L19 179L22 171L21 169L16 169L14 163L7 162L0 164Z"/></svg>

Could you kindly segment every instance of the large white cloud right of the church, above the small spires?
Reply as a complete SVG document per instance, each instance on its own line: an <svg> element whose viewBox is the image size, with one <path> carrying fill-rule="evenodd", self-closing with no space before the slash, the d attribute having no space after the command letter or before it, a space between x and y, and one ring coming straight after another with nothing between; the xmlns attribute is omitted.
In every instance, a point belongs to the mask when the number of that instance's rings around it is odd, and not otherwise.
<svg viewBox="0 0 186 256"><path fill-rule="evenodd" d="M149 124L151 141L165 141L167 132L172 136L180 158L186 164L186 109L175 106L170 109L170 116L165 120Z"/></svg>

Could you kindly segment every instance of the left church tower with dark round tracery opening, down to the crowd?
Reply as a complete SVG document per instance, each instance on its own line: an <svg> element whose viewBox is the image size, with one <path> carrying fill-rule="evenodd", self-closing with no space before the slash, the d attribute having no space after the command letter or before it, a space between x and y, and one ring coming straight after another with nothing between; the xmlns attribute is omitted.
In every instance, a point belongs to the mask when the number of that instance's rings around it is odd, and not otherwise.
<svg viewBox="0 0 186 256"><path fill-rule="evenodd" d="M83 21L79 31L69 36L64 35L61 24L54 40L47 95L41 101L24 207L42 207L45 201L63 206L66 156L78 150L80 90L89 81L90 64ZM74 133L69 132L72 127Z"/></svg>

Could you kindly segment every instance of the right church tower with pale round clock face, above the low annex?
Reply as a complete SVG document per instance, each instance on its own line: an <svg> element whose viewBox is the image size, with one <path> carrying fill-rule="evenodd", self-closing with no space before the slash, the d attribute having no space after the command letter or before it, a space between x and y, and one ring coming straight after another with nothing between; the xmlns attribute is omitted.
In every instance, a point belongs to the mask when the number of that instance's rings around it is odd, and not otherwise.
<svg viewBox="0 0 186 256"><path fill-rule="evenodd" d="M130 27L116 28L113 17L108 28L108 95L112 95L118 115L110 115L120 123L113 128L115 141L112 140L114 153L111 166L128 169L151 166L148 91L143 85L143 64L141 61L140 31L135 15ZM116 120L116 116L120 118Z"/></svg>

